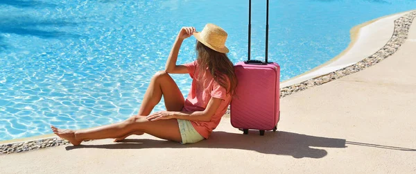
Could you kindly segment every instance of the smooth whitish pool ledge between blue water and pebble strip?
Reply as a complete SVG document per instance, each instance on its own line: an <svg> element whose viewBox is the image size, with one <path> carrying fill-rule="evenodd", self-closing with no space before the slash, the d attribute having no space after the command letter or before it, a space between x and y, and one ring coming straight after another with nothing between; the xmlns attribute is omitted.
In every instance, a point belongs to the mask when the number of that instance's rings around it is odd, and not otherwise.
<svg viewBox="0 0 416 174"><path fill-rule="evenodd" d="M404 14L412 11L413 10L409 10L406 12L399 12L392 15L386 15L376 19L372 19L371 21L366 21L363 24L358 24L357 26L354 26L349 31L351 42L349 42L349 45L345 50L343 50L341 53L336 55L331 60L328 60L327 62L320 64L318 67L315 67L309 71L301 73L300 75L280 82L280 88L288 87L291 85L298 84L300 82L304 82L306 80L324 76L328 73L337 71L338 69L343 69L352 64L356 64L357 62L360 62L365 58L368 58L372 54L376 53L376 51L379 51L380 48L383 48L383 46L385 46L385 44L391 40L391 36L395 32L394 21L402 17ZM392 27L379 27L386 25L391 25ZM391 35L381 35L381 37L383 38L380 38L379 36L381 33L391 33ZM377 46L374 46L374 40L377 42ZM372 44L372 48L370 48L370 50L368 48L357 48L357 46L363 46L365 45L365 43L369 42Z"/></svg>

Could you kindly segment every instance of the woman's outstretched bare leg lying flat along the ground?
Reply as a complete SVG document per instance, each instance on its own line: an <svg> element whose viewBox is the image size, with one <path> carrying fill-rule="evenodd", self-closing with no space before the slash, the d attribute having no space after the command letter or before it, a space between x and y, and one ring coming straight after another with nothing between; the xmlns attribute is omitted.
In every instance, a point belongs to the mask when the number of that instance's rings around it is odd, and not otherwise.
<svg viewBox="0 0 416 174"><path fill-rule="evenodd" d="M130 119L120 123L104 125L89 130L60 130L53 125L51 125L51 128L55 134L62 139L67 139L73 146L78 146L86 139L114 139L122 137L129 132L137 131L145 132L161 139L182 141L176 119L148 121L146 116L132 116Z"/></svg>

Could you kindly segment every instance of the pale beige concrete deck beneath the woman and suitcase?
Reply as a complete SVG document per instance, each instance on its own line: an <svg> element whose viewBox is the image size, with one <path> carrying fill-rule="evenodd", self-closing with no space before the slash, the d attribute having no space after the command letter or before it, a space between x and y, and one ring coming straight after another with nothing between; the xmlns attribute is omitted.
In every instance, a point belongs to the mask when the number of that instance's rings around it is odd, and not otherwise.
<svg viewBox="0 0 416 174"><path fill-rule="evenodd" d="M224 118L180 145L144 135L0 156L0 173L416 173L416 24L373 67L281 99L279 132Z"/></svg>

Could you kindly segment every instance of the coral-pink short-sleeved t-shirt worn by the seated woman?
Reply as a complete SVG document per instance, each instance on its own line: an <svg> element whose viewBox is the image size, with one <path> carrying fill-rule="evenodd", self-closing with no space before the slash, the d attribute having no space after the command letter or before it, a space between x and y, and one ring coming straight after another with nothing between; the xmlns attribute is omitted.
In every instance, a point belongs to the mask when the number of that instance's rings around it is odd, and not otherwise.
<svg viewBox="0 0 416 174"><path fill-rule="evenodd" d="M227 112L227 107L231 101L232 96L227 94L224 87L220 86L218 82L214 80L209 71L205 71L200 80L198 77L198 62L193 61L184 64L189 70L189 76L192 78L191 89L184 103L184 111L203 111L207 107L211 97L223 99L223 102L218 107L218 110L213 116L211 121L191 121L193 128L205 137L206 139L211 134L217 125L220 123L221 117Z"/></svg>

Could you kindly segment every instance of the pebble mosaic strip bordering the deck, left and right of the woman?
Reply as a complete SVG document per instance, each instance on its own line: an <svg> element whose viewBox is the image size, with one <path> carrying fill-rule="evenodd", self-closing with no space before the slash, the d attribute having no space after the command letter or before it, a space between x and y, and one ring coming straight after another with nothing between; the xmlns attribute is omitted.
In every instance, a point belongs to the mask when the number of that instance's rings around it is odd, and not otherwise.
<svg viewBox="0 0 416 174"><path fill-rule="evenodd" d="M379 49L379 51L377 51L373 55L370 55L370 57L365 58L364 60L361 60L356 64L352 64L349 67L345 67L343 69L333 71L332 73L328 73L324 76L312 78L310 80L306 80L295 85L281 88L280 98L284 98L285 96L294 94L295 92L301 92L305 89L308 89L309 87L322 85L332 80L342 78L351 73L356 73L367 67L371 67L372 65L378 62L381 62L381 60L384 60L385 58L388 58L388 56L395 53L399 49L401 44L403 44L404 41L407 39L410 25L412 24L412 21L415 17L416 11L413 11L409 12L407 15L404 15L403 17L400 17L399 19L396 19L395 31L388 43L385 44L383 48ZM227 114L228 113L229 110L227 110ZM40 139L21 143L9 143L0 146L0 154L21 153L29 150L38 150L42 148L62 146L67 144L69 144L69 141L58 138Z"/></svg>

